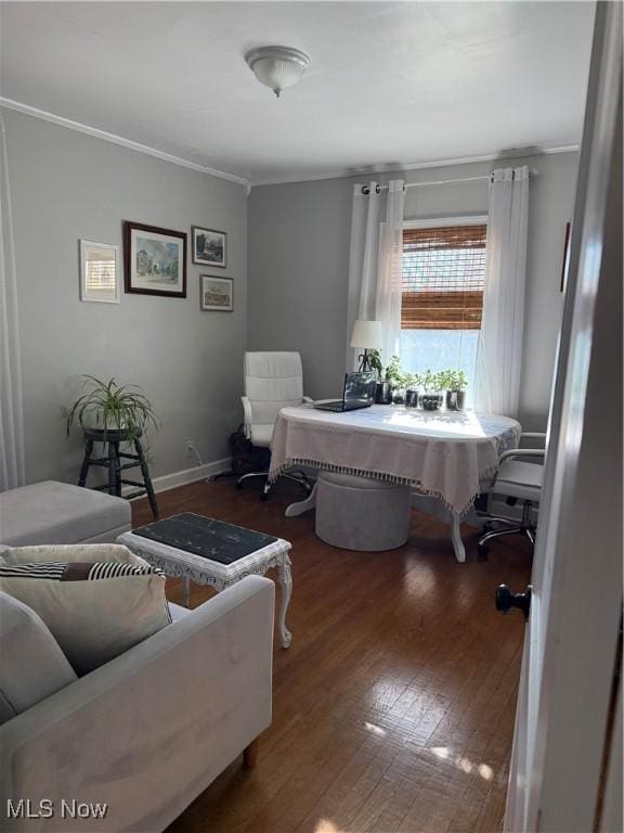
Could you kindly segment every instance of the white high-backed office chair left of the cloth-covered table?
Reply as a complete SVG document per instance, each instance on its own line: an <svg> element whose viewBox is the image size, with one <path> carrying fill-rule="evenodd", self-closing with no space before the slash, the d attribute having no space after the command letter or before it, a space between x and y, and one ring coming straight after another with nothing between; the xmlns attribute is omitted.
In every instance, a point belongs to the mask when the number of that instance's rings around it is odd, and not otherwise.
<svg viewBox="0 0 624 833"><path fill-rule="evenodd" d="M271 448L273 426L282 408L312 401L303 396L303 369L299 353L246 353L245 396L240 397L245 411L245 435L255 446ZM281 475L295 480L308 494L312 491L303 472L287 472ZM260 500L266 500L271 491L269 470L248 472L236 480L236 488L246 480L263 477Z"/></svg>

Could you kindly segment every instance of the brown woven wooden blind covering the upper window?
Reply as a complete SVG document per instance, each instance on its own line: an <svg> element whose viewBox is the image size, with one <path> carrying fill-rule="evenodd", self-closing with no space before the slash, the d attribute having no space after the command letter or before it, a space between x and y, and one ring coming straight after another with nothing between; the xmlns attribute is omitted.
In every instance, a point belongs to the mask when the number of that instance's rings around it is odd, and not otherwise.
<svg viewBox="0 0 624 833"><path fill-rule="evenodd" d="M401 328L480 330L487 227L404 229Z"/></svg>

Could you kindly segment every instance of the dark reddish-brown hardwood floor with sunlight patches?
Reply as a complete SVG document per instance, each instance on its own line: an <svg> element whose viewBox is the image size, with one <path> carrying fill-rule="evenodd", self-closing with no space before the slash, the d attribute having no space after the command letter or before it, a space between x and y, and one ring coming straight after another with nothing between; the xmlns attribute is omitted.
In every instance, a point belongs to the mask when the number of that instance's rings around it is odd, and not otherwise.
<svg viewBox="0 0 624 833"><path fill-rule="evenodd" d="M524 623L493 597L502 581L524 587L528 547L505 538L478 561L467 527L458 564L447 528L414 512L399 550L337 550L313 513L284 517L296 488L281 483L265 503L232 480L158 495L161 516L194 511L294 547L292 645L275 641L258 765L235 761L169 833L500 830ZM151 521L144 500L133 518ZM191 606L210 592L193 586ZM168 593L179 601L178 581Z"/></svg>

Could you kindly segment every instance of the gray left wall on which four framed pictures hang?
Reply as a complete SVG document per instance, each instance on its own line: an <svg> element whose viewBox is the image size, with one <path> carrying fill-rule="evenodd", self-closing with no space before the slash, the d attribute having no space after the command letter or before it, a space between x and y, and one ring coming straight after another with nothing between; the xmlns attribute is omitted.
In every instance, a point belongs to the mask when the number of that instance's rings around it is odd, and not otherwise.
<svg viewBox="0 0 624 833"><path fill-rule="evenodd" d="M240 422L247 337L247 198L242 185L4 110L13 198L25 389L27 480L75 480L78 435L62 408L77 376L141 385L161 431L152 474L190 469L185 441L205 462L227 456ZM121 244L125 219L229 234L226 269L193 266L187 297L122 293L120 305L79 300L78 241ZM199 274L234 278L234 312L203 312Z"/></svg>

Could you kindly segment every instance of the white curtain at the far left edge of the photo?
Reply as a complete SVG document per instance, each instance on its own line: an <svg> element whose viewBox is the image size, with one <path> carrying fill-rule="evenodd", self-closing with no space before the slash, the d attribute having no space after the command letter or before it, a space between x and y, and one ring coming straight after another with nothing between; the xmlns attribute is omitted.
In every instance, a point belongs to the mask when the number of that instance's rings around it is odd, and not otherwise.
<svg viewBox="0 0 624 833"><path fill-rule="evenodd" d="M4 120L0 114L0 490L23 486L24 416L17 275Z"/></svg>

